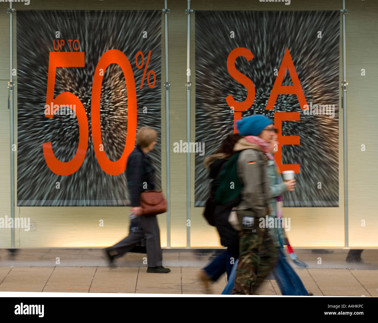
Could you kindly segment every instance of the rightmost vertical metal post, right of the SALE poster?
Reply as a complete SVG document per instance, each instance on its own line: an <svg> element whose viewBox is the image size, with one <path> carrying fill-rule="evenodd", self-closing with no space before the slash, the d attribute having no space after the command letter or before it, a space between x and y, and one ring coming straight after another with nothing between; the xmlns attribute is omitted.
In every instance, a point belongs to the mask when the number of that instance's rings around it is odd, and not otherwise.
<svg viewBox="0 0 378 323"><path fill-rule="evenodd" d="M348 228L348 138L347 138L347 67L346 67L346 44L345 44L345 0L342 0L342 121L344 138L344 230L345 248L349 248L349 228Z"/></svg>

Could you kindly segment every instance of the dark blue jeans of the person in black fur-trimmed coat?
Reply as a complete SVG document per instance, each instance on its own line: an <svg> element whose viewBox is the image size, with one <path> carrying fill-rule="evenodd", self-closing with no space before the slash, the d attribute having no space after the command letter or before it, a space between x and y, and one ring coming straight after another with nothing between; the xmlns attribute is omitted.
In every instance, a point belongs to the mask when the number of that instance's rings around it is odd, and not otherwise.
<svg viewBox="0 0 378 323"><path fill-rule="evenodd" d="M204 271L214 282L224 273L227 273L227 280L231 274L231 269L235 267L233 264L239 257L239 246L235 248L228 247L227 250L215 258L208 266L203 268ZM234 275L235 279L235 275Z"/></svg>

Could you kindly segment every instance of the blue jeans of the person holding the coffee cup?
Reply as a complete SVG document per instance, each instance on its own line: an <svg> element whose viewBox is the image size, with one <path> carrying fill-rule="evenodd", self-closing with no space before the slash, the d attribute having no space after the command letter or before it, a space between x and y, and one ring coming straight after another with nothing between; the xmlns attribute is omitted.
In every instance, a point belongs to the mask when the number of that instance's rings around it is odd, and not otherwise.
<svg viewBox="0 0 378 323"><path fill-rule="evenodd" d="M273 269L273 275L276 278L277 285L280 288L282 295L294 295L294 296L307 296L308 292L302 283L302 280L296 274L293 268L286 261L286 256L282 252L282 248L279 251L279 260ZM237 262L235 262L232 268L228 283L223 289L222 295L232 295L232 289L234 288L234 280L236 273Z"/></svg>

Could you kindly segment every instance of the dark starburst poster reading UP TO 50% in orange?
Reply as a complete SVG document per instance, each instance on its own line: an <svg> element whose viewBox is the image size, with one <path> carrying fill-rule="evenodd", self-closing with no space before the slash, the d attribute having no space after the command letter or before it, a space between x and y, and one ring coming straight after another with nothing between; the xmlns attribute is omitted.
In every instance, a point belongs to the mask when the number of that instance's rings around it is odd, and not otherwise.
<svg viewBox="0 0 378 323"><path fill-rule="evenodd" d="M17 13L17 205L129 205L139 128L161 186L161 12Z"/></svg>

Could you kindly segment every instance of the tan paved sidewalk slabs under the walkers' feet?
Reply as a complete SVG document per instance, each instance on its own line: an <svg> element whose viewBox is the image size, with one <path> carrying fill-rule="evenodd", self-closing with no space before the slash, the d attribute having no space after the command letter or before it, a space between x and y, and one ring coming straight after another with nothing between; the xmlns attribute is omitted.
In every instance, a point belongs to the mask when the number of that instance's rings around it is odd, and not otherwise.
<svg viewBox="0 0 378 323"><path fill-rule="evenodd" d="M147 273L146 267L1 266L1 292L102 292L205 294L197 278L200 268L171 267L168 274ZM295 269L314 296L378 296L378 271L363 269ZM212 285L220 294L223 275ZM265 280L260 295L280 295L275 280Z"/></svg>

